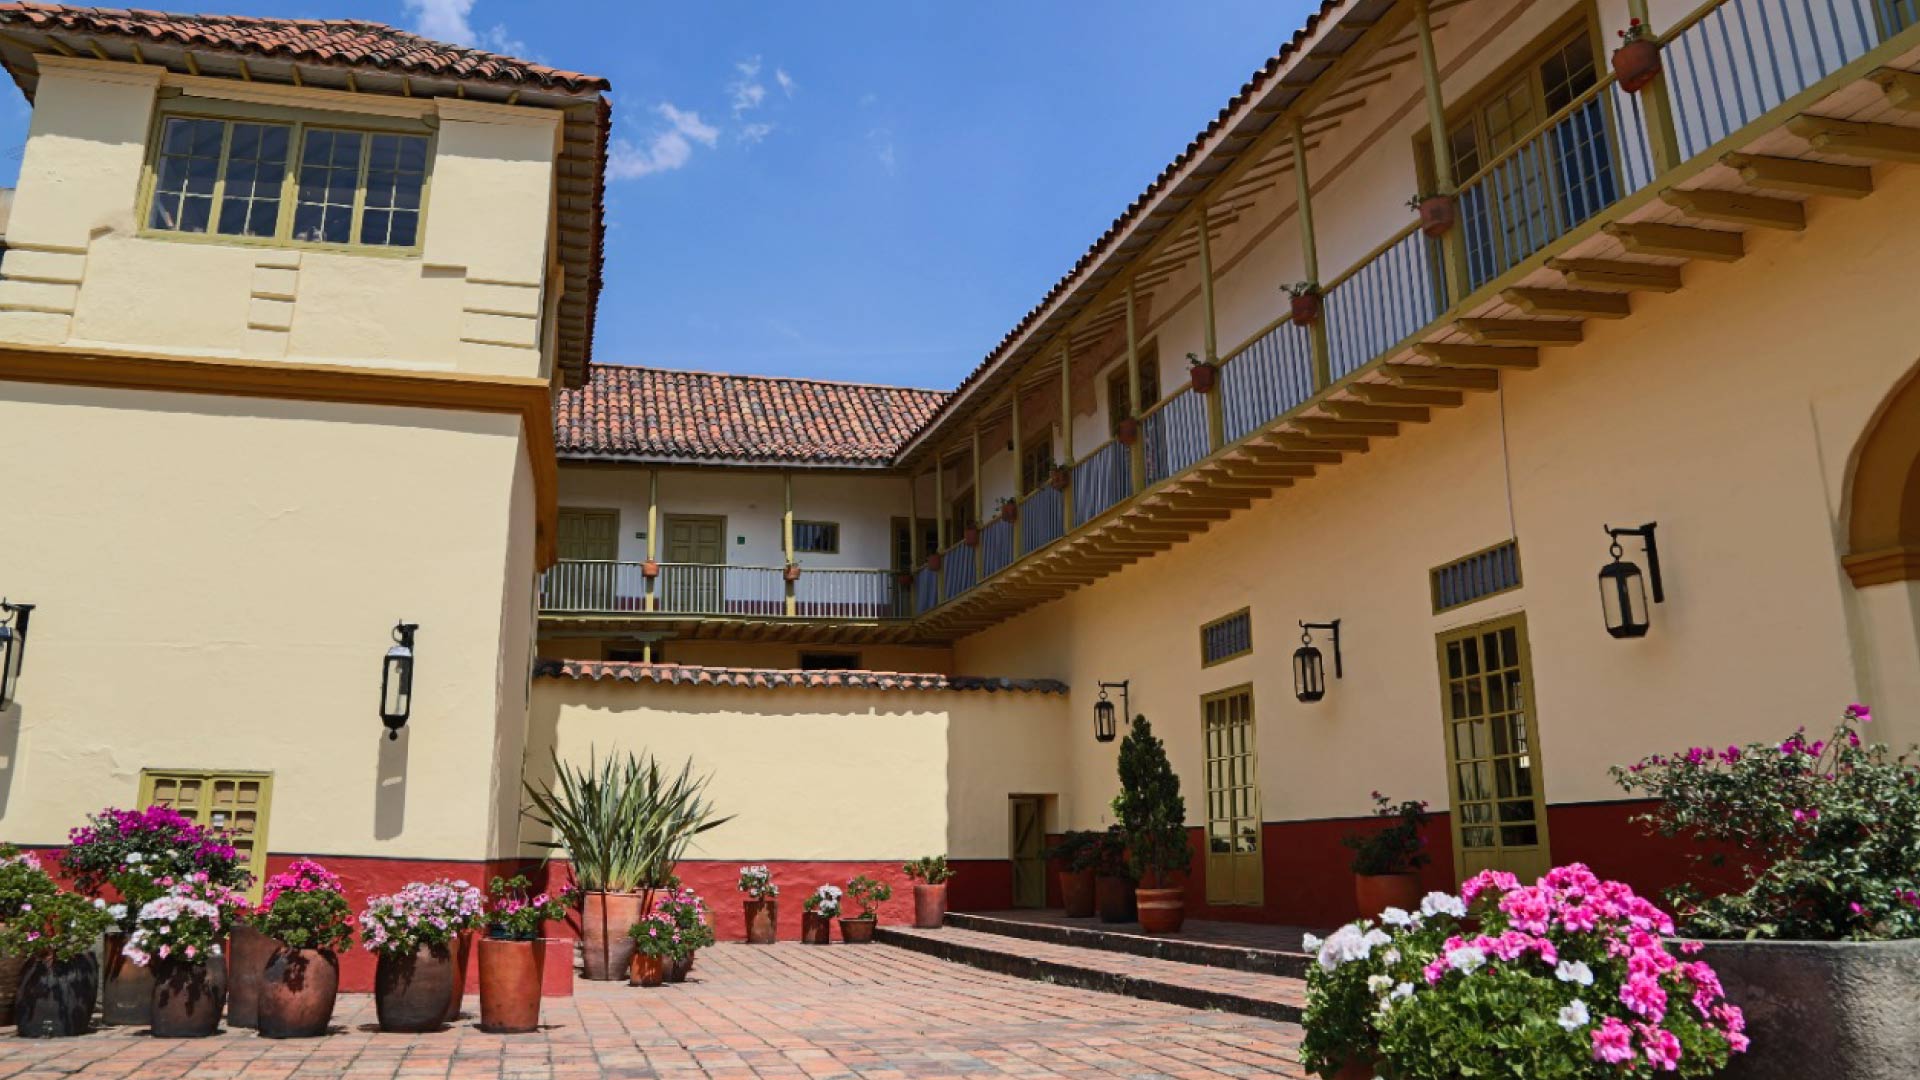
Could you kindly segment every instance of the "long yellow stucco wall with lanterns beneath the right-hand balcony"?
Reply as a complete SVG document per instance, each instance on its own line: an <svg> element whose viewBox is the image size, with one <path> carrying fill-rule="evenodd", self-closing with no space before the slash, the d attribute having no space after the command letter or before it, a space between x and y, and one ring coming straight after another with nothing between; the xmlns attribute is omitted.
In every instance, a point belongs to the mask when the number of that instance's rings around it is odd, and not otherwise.
<svg viewBox="0 0 1920 1080"><path fill-rule="evenodd" d="M1878 734L1920 740L1912 598L1855 592L1849 455L1920 359L1907 315L1920 171L1860 202L1814 202L1805 234L1749 233L1634 317L1590 321L1500 396L1350 455L1194 540L956 646L964 673L1073 686L1131 678L1198 813L1202 694L1252 682L1263 817L1359 815L1367 792L1446 805L1434 634L1524 611L1549 801L1617 798L1605 767L1690 740L1778 738L1880 700ZM1601 628L1601 525L1659 521L1667 603L1653 632ZM1430 567L1517 534L1524 588L1432 615ZM1202 669L1198 626L1252 605L1256 651ZM1292 698L1296 623L1342 619L1346 678ZM1112 761L1069 740L1069 821L1089 826Z"/></svg>

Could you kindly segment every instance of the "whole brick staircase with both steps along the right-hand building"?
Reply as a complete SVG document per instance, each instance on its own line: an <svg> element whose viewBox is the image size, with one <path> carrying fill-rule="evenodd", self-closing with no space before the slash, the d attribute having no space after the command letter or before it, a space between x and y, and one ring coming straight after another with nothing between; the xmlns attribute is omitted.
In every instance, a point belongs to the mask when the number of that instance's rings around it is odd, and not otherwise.
<svg viewBox="0 0 1920 1080"><path fill-rule="evenodd" d="M881 926L877 940L983 970L1298 1022L1306 1005L1300 930L1188 920L1181 934L1100 924L1046 911L947 915L939 930Z"/></svg>

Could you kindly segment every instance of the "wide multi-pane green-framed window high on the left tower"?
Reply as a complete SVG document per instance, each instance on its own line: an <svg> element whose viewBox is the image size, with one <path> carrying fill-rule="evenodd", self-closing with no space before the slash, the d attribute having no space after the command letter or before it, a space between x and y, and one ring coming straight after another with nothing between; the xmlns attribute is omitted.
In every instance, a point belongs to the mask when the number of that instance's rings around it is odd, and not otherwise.
<svg viewBox="0 0 1920 1080"><path fill-rule="evenodd" d="M424 121L175 100L148 138L140 234L417 256L432 163Z"/></svg>

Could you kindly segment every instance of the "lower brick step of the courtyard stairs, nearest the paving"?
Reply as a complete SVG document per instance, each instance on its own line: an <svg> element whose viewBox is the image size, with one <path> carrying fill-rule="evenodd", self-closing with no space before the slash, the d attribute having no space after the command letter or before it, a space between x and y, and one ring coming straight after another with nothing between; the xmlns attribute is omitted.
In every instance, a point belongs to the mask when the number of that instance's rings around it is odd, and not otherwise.
<svg viewBox="0 0 1920 1080"><path fill-rule="evenodd" d="M960 926L939 930L879 926L876 940L1016 978L1165 1001L1188 1009L1219 1009L1265 1020L1300 1022L1306 1007L1306 982L1281 974L1058 945Z"/></svg>

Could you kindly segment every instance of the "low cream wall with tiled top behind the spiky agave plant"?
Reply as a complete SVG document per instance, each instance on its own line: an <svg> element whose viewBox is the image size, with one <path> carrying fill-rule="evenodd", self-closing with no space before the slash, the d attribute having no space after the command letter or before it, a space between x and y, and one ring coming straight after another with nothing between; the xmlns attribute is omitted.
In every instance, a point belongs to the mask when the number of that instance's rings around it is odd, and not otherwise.
<svg viewBox="0 0 1920 1080"><path fill-rule="evenodd" d="M1008 855L1010 794L1060 796L1066 700L1023 692L743 690L540 678L528 776L651 753L712 773L735 821L691 859ZM528 838L536 826L526 826ZM532 851L532 849L530 849Z"/></svg>

